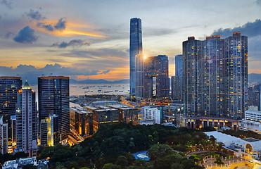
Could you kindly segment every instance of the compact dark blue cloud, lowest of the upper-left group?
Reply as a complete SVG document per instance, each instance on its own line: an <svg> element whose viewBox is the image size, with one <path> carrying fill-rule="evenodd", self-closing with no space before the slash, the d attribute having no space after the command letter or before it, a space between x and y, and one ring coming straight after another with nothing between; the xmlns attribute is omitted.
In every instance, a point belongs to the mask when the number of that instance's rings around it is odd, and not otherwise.
<svg viewBox="0 0 261 169"><path fill-rule="evenodd" d="M16 37L13 38L15 42L22 44L32 44L37 41L37 37L34 35L34 30L29 26L24 27Z"/></svg>

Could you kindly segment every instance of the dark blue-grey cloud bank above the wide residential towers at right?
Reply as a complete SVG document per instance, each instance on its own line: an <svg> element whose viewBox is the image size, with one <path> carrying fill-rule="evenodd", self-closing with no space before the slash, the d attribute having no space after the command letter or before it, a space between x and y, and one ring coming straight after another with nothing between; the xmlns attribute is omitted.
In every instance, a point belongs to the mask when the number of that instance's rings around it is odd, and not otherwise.
<svg viewBox="0 0 261 169"><path fill-rule="evenodd" d="M261 0L260 0L261 1ZM241 35L246 35L248 37L255 37L261 35L261 20L257 19L253 23L246 23L243 26L234 27L234 28L226 28L219 30L215 30L212 35L220 35L222 37L229 37L233 32L241 32Z"/></svg>

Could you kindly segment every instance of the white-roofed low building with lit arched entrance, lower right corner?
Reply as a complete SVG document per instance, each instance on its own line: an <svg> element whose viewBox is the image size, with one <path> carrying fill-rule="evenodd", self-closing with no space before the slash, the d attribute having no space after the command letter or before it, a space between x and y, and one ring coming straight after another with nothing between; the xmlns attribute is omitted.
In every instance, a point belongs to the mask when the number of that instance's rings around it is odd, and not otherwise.
<svg viewBox="0 0 261 169"><path fill-rule="evenodd" d="M248 161L261 158L261 140L254 138L241 139L222 132L205 132L209 137L212 135L217 142L222 142L226 149L234 151L235 156L240 156Z"/></svg>

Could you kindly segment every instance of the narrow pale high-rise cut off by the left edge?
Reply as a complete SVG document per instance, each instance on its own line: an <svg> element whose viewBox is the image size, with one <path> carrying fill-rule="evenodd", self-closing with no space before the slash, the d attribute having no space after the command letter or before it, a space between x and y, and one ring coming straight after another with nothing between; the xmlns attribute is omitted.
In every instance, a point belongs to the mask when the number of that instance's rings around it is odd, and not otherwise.
<svg viewBox="0 0 261 169"><path fill-rule="evenodd" d="M0 153L8 153L8 124L3 123L3 116L0 116Z"/></svg>

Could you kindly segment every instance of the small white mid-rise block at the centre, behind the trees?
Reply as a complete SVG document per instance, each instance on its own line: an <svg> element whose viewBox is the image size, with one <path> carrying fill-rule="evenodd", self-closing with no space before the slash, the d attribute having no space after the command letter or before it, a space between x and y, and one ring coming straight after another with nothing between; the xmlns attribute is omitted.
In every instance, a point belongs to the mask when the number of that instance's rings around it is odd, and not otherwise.
<svg viewBox="0 0 261 169"><path fill-rule="evenodd" d="M141 125L142 123L146 124L146 122L148 121L152 121L153 124L160 124L162 119L162 113L162 109L158 107L143 107Z"/></svg>

